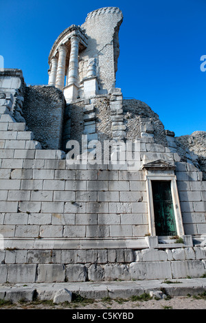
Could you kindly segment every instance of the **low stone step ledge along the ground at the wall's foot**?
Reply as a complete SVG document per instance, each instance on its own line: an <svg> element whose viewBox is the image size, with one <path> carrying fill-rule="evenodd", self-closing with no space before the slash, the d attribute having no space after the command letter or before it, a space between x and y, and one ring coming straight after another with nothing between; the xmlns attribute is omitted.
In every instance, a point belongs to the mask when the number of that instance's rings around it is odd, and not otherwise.
<svg viewBox="0 0 206 323"><path fill-rule="evenodd" d="M133 280L130 281L104 281L104 282L53 282L53 283L17 283L15 285L1 285L0 299L18 301L22 296L27 300L54 300L60 289L67 289L71 293L78 293L85 298L101 299L106 296L111 298L129 298L141 296L150 291L163 290L168 296L198 295L205 292L206 278L171 279L172 284L163 280Z"/></svg>

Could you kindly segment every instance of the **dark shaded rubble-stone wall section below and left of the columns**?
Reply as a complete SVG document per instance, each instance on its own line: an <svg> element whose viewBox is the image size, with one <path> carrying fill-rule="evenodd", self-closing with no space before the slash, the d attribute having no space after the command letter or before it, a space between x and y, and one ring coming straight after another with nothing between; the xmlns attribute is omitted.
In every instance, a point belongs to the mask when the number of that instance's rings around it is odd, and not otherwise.
<svg viewBox="0 0 206 323"><path fill-rule="evenodd" d="M55 87L25 87L23 118L43 149L60 149L65 98Z"/></svg>

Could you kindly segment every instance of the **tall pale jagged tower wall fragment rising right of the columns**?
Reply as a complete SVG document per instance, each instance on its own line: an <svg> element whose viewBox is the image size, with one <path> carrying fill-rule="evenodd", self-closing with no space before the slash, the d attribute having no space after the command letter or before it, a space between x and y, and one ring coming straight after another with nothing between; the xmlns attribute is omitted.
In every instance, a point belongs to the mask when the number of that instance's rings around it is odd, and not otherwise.
<svg viewBox="0 0 206 323"><path fill-rule="evenodd" d="M122 20L119 8L102 8L88 14L86 21L81 25L88 36L88 47L80 53L80 70L84 71L82 78L87 76L89 58L95 58L102 93L115 87L115 72L119 57L118 31Z"/></svg>

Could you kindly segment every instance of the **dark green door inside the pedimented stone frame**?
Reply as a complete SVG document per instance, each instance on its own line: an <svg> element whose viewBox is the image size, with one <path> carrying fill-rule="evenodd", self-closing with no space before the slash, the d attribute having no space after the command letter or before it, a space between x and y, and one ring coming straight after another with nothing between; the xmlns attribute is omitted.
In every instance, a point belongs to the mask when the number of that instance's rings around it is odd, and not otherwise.
<svg viewBox="0 0 206 323"><path fill-rule="evenodd" d="M176 223L172 203L171 182L152 181L152 197L157 236L176 236Z"/></svg>

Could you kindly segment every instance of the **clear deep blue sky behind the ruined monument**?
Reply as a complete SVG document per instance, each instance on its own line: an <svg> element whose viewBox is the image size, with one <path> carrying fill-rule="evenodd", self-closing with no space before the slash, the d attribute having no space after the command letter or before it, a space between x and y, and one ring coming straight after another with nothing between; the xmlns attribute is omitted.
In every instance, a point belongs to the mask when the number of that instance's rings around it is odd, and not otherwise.
<svg viewBox="0 0 206 323"><path fill-rule="evenodd" d="M176 136L206 131L206 0L0 0L0 55L27 84L47 84L49 51L69 25L87 13L119 7L116 87L146 102Z"/></svg>

